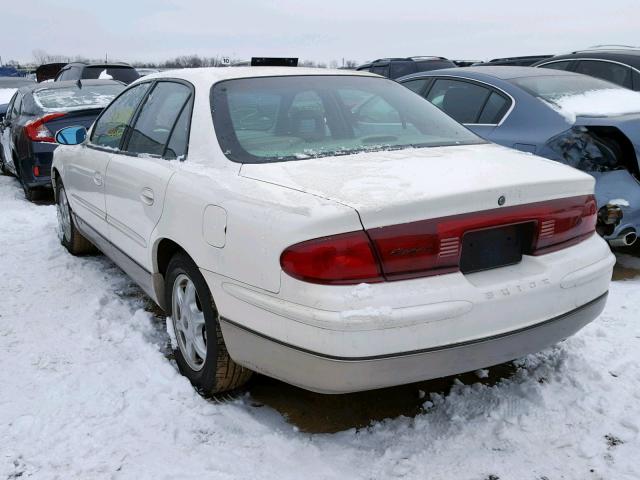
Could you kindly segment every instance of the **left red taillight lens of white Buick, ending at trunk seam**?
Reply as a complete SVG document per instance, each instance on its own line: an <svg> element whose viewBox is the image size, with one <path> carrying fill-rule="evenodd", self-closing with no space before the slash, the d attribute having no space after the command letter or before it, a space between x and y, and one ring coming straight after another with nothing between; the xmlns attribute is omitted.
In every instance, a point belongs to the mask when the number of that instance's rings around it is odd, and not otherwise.
<svg viewBox="0 0 640 480"><path fill-rule="evenodd" d="M293 245L280 256L280 265L292 277L313 283L383 281L371 243L363 231Z"/></svg>

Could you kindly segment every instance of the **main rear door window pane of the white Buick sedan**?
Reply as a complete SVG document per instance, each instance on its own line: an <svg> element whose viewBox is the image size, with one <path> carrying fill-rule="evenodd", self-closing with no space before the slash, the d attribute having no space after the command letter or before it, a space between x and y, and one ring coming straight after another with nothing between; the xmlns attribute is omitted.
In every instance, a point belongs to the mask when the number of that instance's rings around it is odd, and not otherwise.
<svg viewBox="0 0 640 480"><path fill-rule="evenodd" d="M190 95L191 89L181 83L157 83L131 129L126 150L162 155L173 125Z"/></svg>

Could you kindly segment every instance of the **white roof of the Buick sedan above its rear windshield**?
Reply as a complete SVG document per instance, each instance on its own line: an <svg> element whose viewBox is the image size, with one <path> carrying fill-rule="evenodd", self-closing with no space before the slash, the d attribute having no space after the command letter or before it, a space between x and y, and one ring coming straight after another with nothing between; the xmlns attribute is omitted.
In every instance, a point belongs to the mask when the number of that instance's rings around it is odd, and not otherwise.
<svg viewBox="0 0 640 480"><path fill-rule="evenodd" d="M152 80L154 78L177 78L193 83L214 83L221 80L235 78L254 77L291 77L291 76L327 76L327 75L351 75L358 77L375 77L379 75L357 70L338 70L330 68L306 68L306 67L203 67L183 68L178 70L165 70L152 73L136 80L134 83Z"/></svg>

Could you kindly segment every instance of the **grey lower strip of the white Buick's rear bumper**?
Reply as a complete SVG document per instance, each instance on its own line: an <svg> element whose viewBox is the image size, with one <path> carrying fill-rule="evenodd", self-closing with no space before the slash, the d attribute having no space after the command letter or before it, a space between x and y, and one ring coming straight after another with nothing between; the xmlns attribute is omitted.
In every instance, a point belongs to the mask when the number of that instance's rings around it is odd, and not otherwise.
<svg viewBox="0 0 640 480"><path fill-rule="evenodd" d="M536 325L420 351L343 358L302 349L221 318L236 361L320 393L348 393L401 385L497 365L538 352L573 335L604 309L607 294Z"/></svg>

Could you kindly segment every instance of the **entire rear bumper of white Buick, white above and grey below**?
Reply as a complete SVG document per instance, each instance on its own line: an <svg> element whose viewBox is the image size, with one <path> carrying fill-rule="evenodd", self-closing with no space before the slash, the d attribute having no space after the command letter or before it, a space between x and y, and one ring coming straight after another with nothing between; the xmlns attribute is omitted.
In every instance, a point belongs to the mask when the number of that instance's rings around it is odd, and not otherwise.
<svg viewBox="0 0 640 480"><path fill-rule="evenodd" d="M278 294L201 271L236 362L339 393L474 370L560 341L598 315L614 263L593 235L469 275L358 286L283 276Z"/></svg>

